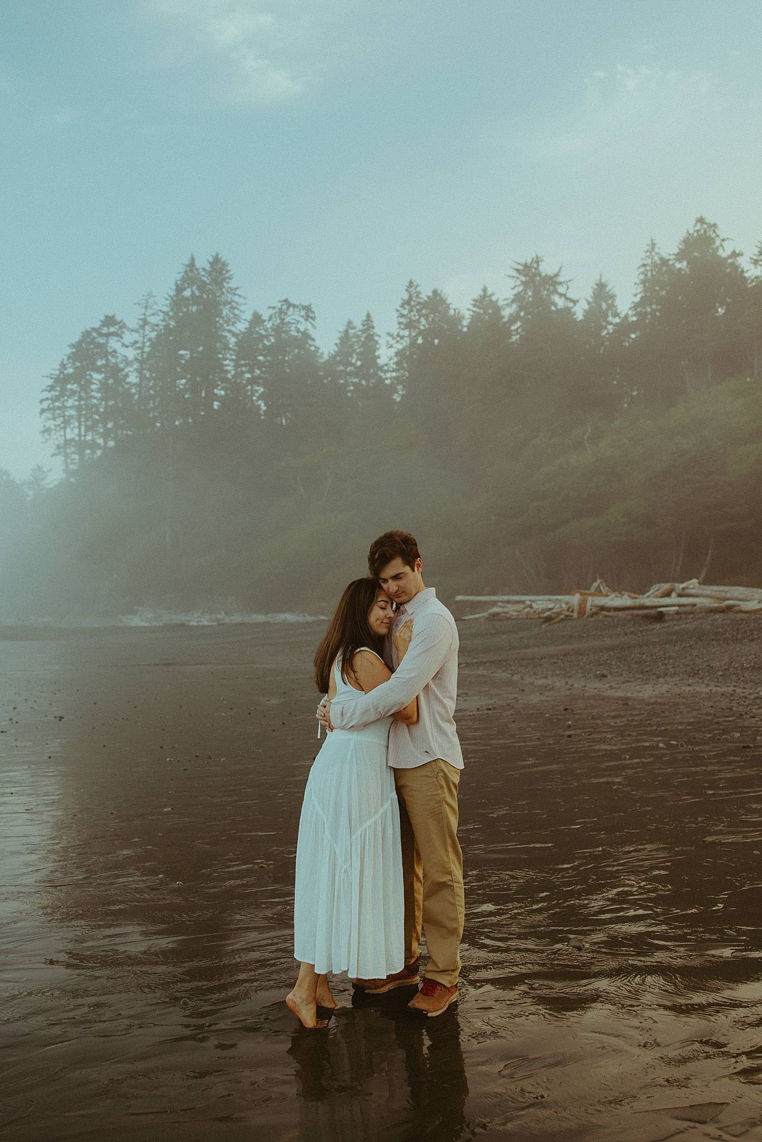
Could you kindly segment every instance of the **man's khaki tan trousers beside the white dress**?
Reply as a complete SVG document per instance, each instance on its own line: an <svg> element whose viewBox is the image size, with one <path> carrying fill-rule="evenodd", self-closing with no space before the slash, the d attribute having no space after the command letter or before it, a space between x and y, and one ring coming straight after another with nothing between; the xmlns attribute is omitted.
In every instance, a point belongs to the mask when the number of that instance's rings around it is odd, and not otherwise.
<svg viewBox="0 0 762 1142"><path fill-rule="evenodd" d="M463 935L460 775L441 758L414 770L395 770L405 884L405 963L419 955L423 922L429 951L425 974L446 987L457 982Z"/></svg>

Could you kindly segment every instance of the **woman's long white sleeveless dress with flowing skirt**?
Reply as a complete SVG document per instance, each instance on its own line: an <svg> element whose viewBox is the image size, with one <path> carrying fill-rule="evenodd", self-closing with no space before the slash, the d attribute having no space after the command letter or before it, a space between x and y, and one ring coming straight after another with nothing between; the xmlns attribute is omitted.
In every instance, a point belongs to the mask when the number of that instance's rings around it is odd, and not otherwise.
<svg viewBox="0 0 762 1142"><path fill-rule="evenodd" d="M357 697L339 662L333 671L337 698ZM391 721L329 733L309 772L297 844L294 956L321 975L382 979L404 966L399 806L387 765Z"/></svg>

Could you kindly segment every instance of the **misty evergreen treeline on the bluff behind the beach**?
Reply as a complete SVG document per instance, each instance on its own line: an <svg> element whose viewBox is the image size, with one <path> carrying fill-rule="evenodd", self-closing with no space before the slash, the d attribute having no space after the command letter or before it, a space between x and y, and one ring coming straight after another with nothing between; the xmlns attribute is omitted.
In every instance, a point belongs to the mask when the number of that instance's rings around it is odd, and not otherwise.
<svg viewBox="0 0 762 1142"><path fill-rule="evenodd" d="M411 281L384 351L366 314L323 354L309 305L246 320L192 258L50 376L64 477L0 482L0 608L325 609L389 526L449 597L762 584L762 243L651 242L626 313L540 257L506 287L463 314Z"/></svg>

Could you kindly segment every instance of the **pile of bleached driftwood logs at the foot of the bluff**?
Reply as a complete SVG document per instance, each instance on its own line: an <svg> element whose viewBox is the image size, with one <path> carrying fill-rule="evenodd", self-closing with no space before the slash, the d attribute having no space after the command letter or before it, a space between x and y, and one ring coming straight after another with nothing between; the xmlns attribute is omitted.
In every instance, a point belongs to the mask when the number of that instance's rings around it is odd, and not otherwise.
<svg viewBox="0 0 762 1142"><path fill-rule="evenodd" d="M698 579L688 582L657 582L645 595L611 590L597 579L590 590L570 595L457 595L461 603L492 603L469 619L542 619L543 625L561 619L587 619L597 614L635 614L665 619L668 614L744 611L762 614L762 589L756 587L705 587Z"/></svg>

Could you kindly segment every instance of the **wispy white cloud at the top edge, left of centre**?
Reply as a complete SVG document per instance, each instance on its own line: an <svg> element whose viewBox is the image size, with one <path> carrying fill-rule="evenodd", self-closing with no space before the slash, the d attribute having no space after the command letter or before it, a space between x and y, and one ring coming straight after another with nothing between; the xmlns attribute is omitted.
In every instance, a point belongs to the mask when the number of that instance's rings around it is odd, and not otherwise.
<svg viewBox="0 0 762 1142"><path fill-rule="evenodd" d="M228 102L292 99L370 39L378 0L144 0L169 30L164 59L213 64L217 95ZM365 26L364 26L365 25Z"/></svg>

